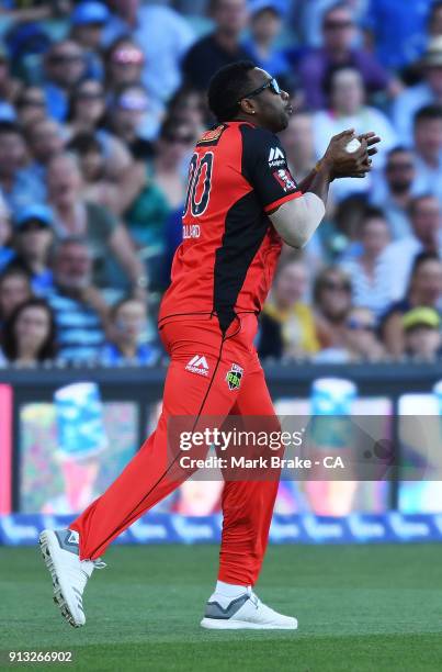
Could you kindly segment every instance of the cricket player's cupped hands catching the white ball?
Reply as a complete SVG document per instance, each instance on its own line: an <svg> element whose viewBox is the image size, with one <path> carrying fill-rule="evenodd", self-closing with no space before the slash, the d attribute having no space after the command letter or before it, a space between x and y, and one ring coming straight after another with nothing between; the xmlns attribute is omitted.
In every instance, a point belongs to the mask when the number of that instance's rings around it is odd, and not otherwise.
<svg viewBox="0 0 442 672"><path fill-rule="evenodd" d="M350 154L347 152L347 145L354 137L358 137L361 147ZM342 131L333 135L321 161L328 165L331 179L363 178L371 170L372 159L370 157L377 153L375 145L379 142L381 138L373 131L358 136L353 128Z"/></svg>

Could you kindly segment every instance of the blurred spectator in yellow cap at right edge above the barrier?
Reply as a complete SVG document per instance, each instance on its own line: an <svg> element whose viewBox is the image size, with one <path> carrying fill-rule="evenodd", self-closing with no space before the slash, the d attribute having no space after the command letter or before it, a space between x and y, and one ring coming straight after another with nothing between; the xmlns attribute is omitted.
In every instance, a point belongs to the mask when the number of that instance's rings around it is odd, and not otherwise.
<svg viewBox="0 0 442 672"><path fill-rule="evenodd" d="M441 317L434 309L419 306L403 317L405 354L418 361L442 357Z"/></svg>

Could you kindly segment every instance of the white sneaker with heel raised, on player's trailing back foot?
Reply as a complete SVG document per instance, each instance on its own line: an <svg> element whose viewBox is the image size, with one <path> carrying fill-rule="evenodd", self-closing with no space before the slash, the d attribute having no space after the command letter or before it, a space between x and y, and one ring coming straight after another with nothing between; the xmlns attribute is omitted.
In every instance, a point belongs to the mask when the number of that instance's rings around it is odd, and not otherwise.
<svg viewBox="0 0 442 672"><path fill-rule="evenodd" d="M105 567L104 562L80 560L78 533L70 529L43 530L39 535L39 548L53 579L54 602L71 626L83 626L83 591L94 568L102 569Z"/></svg>

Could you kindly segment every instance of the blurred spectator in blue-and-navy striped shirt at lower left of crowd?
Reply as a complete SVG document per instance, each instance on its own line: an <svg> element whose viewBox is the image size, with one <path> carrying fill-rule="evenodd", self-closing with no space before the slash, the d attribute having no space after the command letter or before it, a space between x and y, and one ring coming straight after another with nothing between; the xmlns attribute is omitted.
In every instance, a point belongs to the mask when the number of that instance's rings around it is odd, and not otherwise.
<svg viewBox="0 0 442 672"><path fill-rule="evenodd" d="M109 307L92 281L88 240L61 240L53 266L54 288L47 301L55 315L59 357L70 362L97 361L104 344Z"/></svg>

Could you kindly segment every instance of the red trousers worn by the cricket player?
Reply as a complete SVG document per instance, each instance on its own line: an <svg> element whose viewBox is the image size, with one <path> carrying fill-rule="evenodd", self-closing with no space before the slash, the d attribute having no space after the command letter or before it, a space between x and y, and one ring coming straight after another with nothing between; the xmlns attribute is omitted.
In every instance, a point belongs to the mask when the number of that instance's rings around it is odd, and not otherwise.
<svg viewBox="0 0 442 672"><path fill-rule="evenodd" d="M69 526L80 534L82 560L102 556L115 537L180 484L177 479L168 478L168 418L180 415L222 418L229 414L274 416L253 346L256 332L253 314L238 317L224 337L214 316L181 317L160 329L171 363L157 429L110 488ZM199 362L199 358L204 360ZM242 369L239 387L230 387L226 380L233 365ZM240 585L256 583L276 492L275 479L225 483L219 580Z"/></svg>

